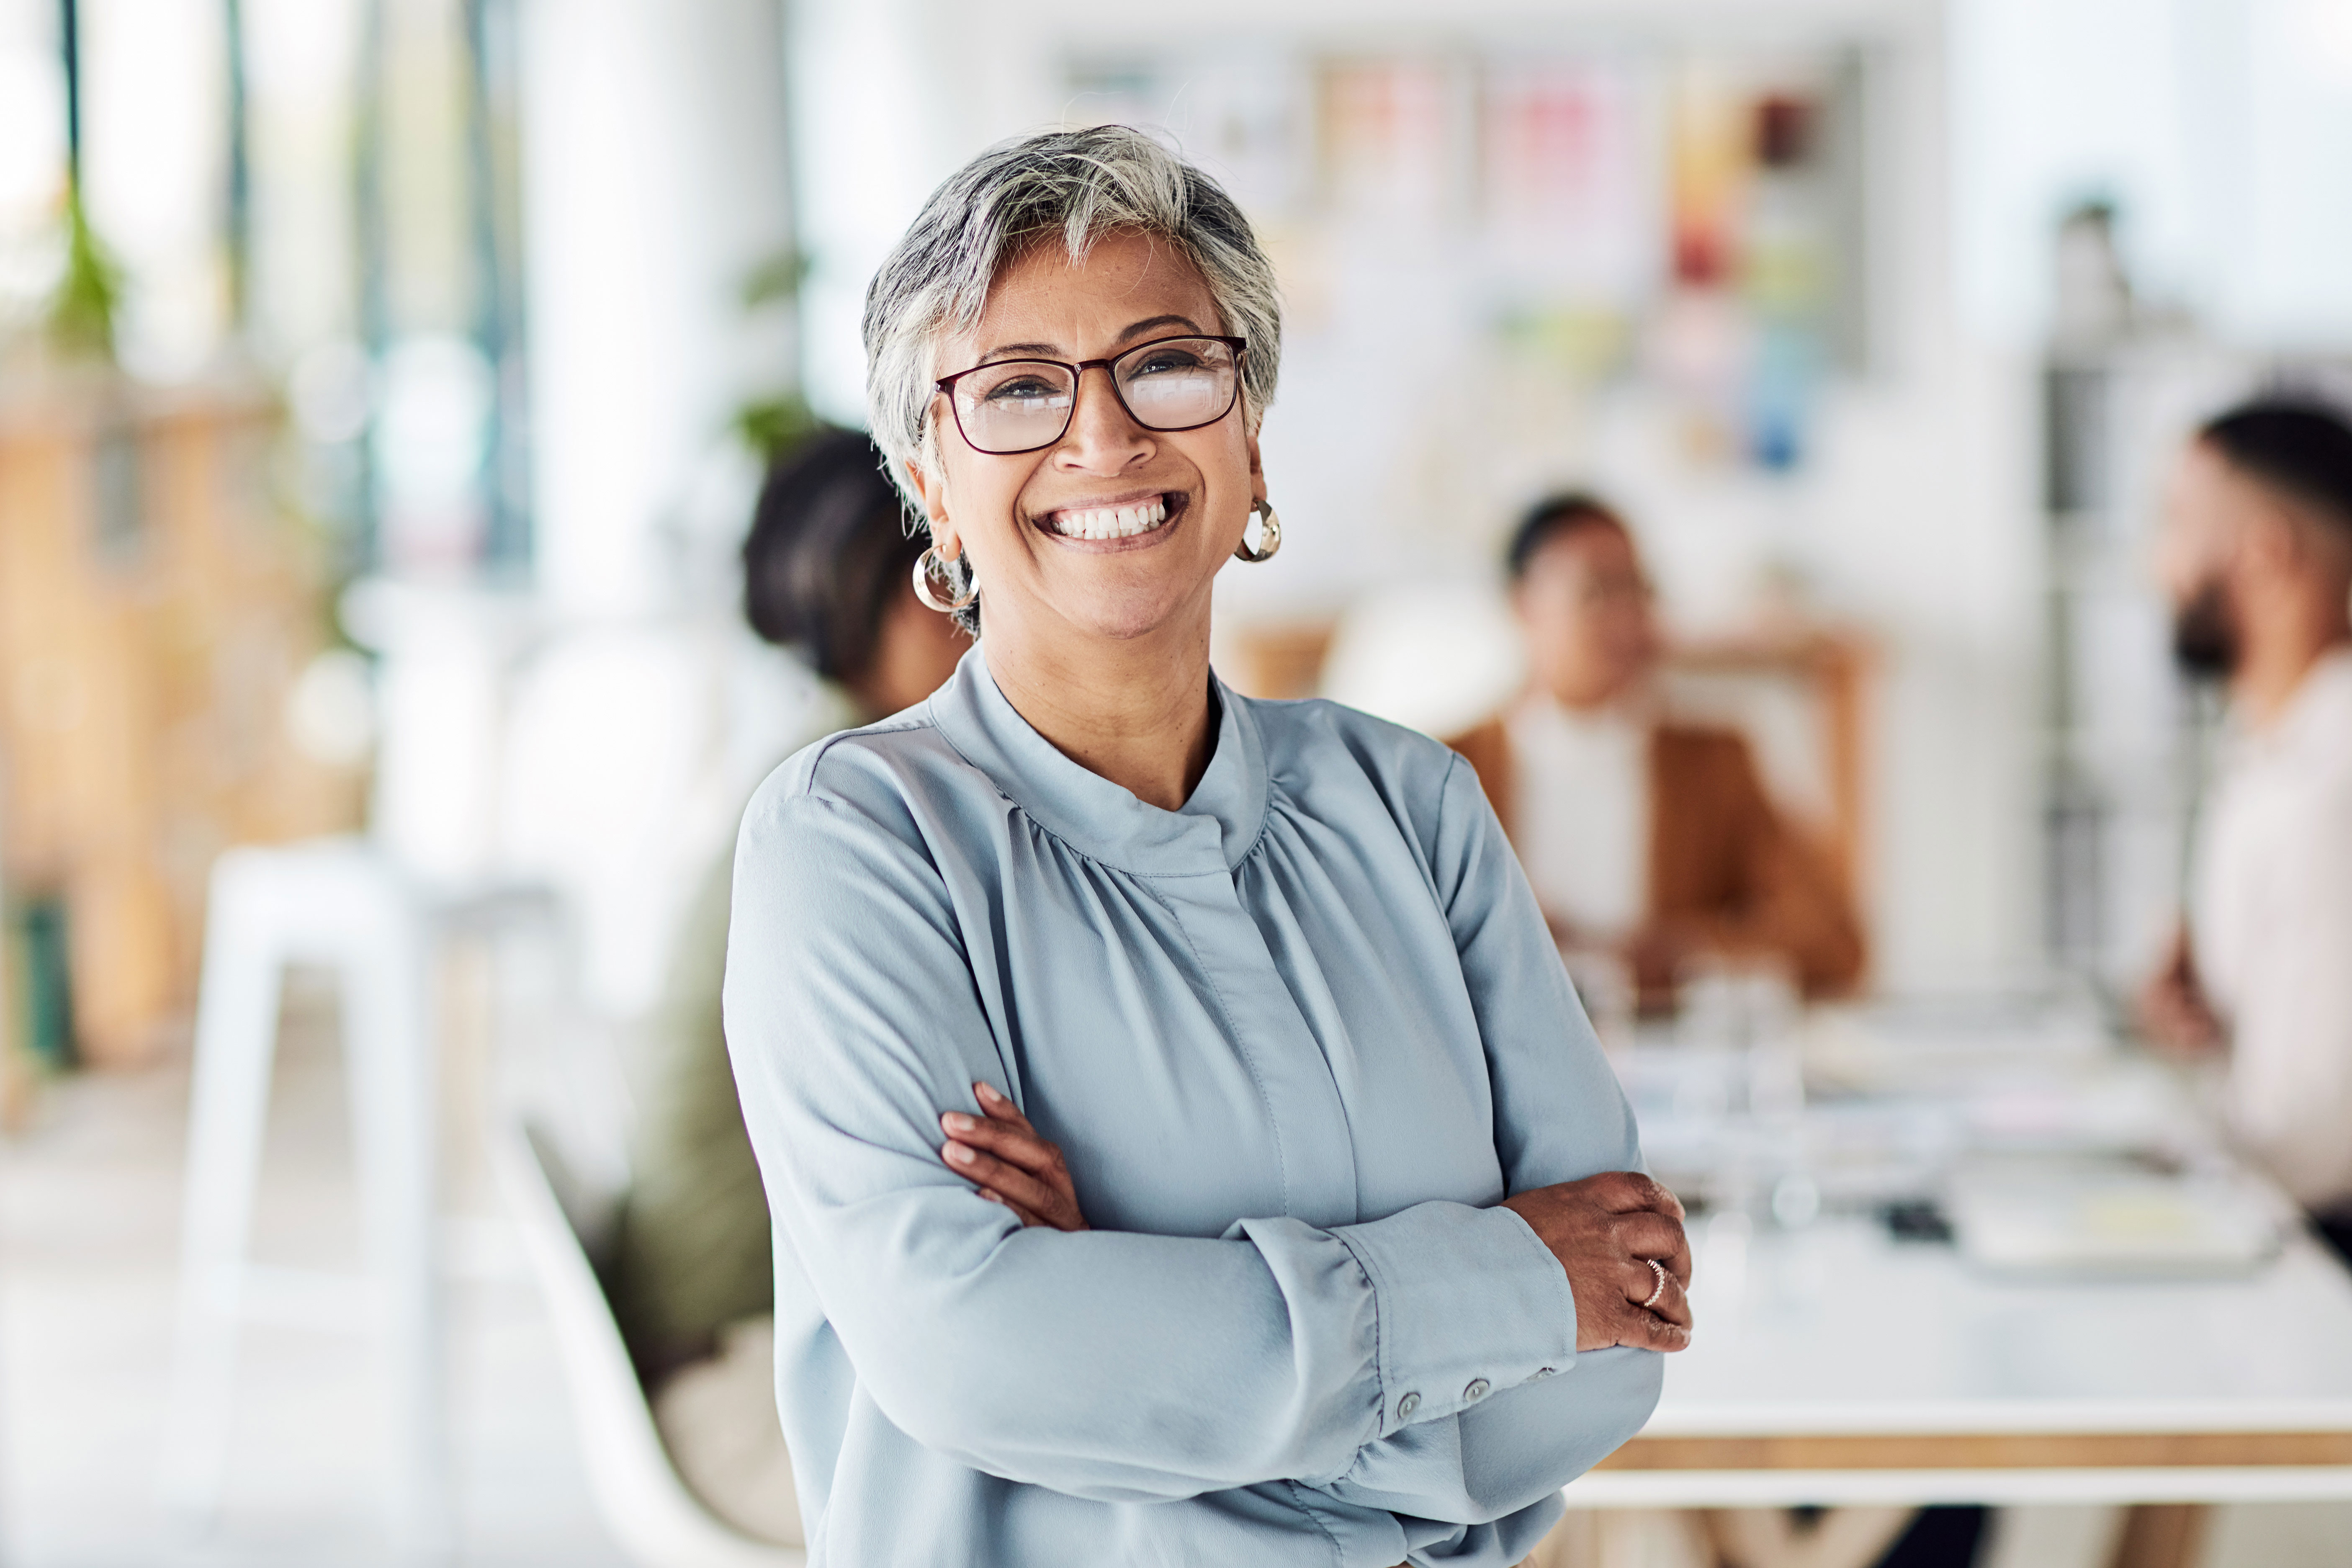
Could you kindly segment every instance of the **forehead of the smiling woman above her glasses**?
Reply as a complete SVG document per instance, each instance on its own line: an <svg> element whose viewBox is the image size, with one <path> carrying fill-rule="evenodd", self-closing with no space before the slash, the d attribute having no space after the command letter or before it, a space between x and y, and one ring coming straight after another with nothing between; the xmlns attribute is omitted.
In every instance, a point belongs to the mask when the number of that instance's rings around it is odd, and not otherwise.
<svg viewBox="0 0 2352 1568"><path fill-rule="evenodd" d="M1223 331L1207 280L1181 249L1157 235L1112 233L1073 259L1058 235L1047 235L1004 263L978 324L957 336L981 353L1028 343L1091 355L1129 324L1160 315Z"/></svg>

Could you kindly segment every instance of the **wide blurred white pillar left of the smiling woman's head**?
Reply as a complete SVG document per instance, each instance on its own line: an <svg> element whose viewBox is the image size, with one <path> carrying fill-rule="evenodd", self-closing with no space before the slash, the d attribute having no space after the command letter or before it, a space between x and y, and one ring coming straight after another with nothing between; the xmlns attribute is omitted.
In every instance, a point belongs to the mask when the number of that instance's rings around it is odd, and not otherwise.
<svg viewBox="0 0 2352 1568"><path fill-rule="evenodd" d="M790 378L741 303L793 237L781 24L774 0L524 0L520 54L539 585L644 611L739 400Z"/></svg>

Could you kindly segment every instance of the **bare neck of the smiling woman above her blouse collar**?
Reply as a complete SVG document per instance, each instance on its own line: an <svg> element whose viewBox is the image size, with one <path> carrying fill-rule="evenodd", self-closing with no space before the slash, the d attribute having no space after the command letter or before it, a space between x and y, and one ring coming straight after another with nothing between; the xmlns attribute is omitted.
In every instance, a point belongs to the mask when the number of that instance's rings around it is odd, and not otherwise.
<svg viewBox="0 0 2352 1568"><path fill-rule="evenodd" d="M1063 757L1176 811L1209 771L1209 616L1143 637L1037 637L985 623L981 654L1004 701Z"/></svg>

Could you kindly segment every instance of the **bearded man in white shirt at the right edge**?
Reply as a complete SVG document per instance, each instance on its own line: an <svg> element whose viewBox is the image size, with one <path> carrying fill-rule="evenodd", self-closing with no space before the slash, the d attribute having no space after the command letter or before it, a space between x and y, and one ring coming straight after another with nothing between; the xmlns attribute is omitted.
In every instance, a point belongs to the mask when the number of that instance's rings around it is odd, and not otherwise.
<svg viewBox="0 0 2352 1568"><path fill-rule="evenodd" d="M2253 402L2204 425L2159 571L2237 733L2140 1020L2227 1051L2232 1131L2352 1258L2352 423Z"/></svg>

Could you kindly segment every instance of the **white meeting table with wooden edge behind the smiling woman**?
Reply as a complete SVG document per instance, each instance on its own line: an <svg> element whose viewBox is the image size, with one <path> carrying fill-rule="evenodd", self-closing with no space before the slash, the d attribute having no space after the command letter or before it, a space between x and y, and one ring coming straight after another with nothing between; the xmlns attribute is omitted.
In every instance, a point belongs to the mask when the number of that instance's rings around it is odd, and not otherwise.
<svg viewBox="0 0 2352 1568"><path fill-rule="evenodd" d="M1891 1086L1884 1126L1931 1161L2020 1124L2042 1147L2161 1133L2211 1152L2187 1098L2145 1067L2018 1063L1994 1053L1978 1077L1940 1056L1933 1093ZM1976 1110L1969 1079L1994 1084ZM1661 1103L1658 1081L1630 1088ZM2056 1114L2070 1098L2082 1114ZM1653 1147L1717 1147L1670 1121L1656 1117ZM1837 1180L1823 1171L1825 1192ZM2260 1272L2218 1281L2002 1279L1858 1213L1797 1229L1696 1218L1693 1253L1693 1345L1668 1361L1642 1436L1566 1488L1571 1507L2352 1497L2352 1274L2300 1232ZM2194 1509L2138 1514L2117 1561L2187 1561Z"/></svg>

